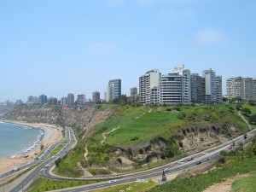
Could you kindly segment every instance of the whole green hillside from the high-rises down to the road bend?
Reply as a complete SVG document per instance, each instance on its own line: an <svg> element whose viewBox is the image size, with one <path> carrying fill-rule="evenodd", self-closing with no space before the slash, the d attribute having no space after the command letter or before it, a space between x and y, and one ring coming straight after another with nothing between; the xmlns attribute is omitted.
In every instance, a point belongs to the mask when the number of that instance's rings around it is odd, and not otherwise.
<svg viewBox="0 0 256 192"><path fill-rule="evenodd" d="M104 106L104 108L106 107ZM140 162L137 157L134 158L131 150L129 151L130 146L152 141L157 142L159 138L161 142L166 143L166 149L161 148L157 152L158 154L153 154L150 158L172 158L180 154L174 137L178 131L183 131L183 125L200 125L201 127L232 126L236 127L236 130L240 133L247 131L247 125L238 116L236 107L230 105L201 107L147 106L139 108L111 106L111 108L115 111L114 115L105 122L96 125L89 138L79 141L73 153L61 161L56 173L79 177L82 172L75 169L79 162L85 168L92 165L113 168L118 161L122 165L122 160L115 155L116 150L127 146L128 150L121 156L125 157L126 160L129 158L133 161L133 166L138 168ZM238 132L236 134L239 134ZM88 146L89 150L88 160L84 159L85 145ZM137 147L135 146L135 148ZM137 153L142 152L142 154L145 154L147 150L147 148L143 148L141 151L139 149L137 148ZM73 170L77 170L77 172L73 172Z"/></svg>

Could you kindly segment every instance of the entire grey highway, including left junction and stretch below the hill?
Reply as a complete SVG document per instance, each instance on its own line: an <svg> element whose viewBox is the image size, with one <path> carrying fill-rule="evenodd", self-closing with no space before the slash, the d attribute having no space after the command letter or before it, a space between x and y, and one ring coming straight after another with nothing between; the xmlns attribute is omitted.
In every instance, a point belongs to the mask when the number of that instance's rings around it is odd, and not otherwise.
<svg viewBox="0 0 256 192"><path fill-rule="evenodd" d="M137 179L148 179L154 177L162 177L163 171L165 170L165 174L168 176L174 172L183 172L192 168L194 166L198 166L198 164L207 163L208 160L211 160L213 157L217 156L223 150L230 150L230 146L235 143L245 143L249 140L249 137L253 137L255 135L256 130L248 131L247 132L247 139L244 139L244 136L236 137L232 141L227 143L221 144L214 148L209 148L205 151L202 151L197 154L193 154L189 157L186 157L183 160L176 160L172 163L168 163L162 166L157 166L151 169L143 170L141 172L130 172L130 173L123 173L112 175L111 177L81 177L81 178L71 178L71 177L59 177L51 173L52 168L55 166L55 160L59 158L63 158L68 151L70 151L77 143L76 138L74 136L73 130L71 128L66 127L65 129L65 139L69 140L70 143L67 144L66 148L63 148L59 154L56 154L54 157L51 157L49 160L44 160L39 166L35 167L32 171L26 174L20 182L18 182L14 188L10 191L17 192L23 191L32 182L33 179L39 177L46 177L49 179L56 179L56 180L102 180L101 183L95 183L75 188L69 189L61 189L58 191L90 191L96 189L107 188L114 185L124 184L124 183L131 183L135 182ZM64 139L64 140L65 140ZM61 143L55 143L55 145L51 146L47 152L44 154L44 158L46 158L49 153ZM31 166L31 165L30 165ZM116 180L116 182L108 183L108 180Z"/></svg>

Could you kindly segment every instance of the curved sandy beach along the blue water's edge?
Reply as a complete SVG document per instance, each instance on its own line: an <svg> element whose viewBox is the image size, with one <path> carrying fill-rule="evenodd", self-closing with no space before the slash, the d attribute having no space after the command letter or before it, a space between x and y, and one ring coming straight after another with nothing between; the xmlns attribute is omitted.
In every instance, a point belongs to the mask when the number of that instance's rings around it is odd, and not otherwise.
<svg viewBox="0 0 256 192"><path fill-rule="evenodd" d="M44 148L48 148L51 144L60 141L63 138L62 130L63 128L57 125L47 125L47 124L38 124L38 123L24 123L24 122L10 122L19 125L27 125L32 126L34 128L40 128L44 130L44 137L42 138L41 142L38 144L36 148L33 148L31 151L27 152L28 157L24 158L24 154L14 157L14 158L6 158L0 159L0 174L4 172L9 172L10 170L14 169L15 167L19 167L26 163L29 163L34 160L40 154L40 147L44 145Z"/></svg>

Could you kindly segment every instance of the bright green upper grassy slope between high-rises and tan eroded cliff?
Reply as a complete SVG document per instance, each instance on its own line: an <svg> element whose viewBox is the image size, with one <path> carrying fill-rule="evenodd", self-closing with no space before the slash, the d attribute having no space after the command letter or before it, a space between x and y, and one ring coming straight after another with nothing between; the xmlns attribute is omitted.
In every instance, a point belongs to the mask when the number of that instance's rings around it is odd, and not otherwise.
<svg viewBox="0 0 256 192"><path fill-rule="evenodd" d="M105 144L113 146L125 146L132 143L149 141L154 137L172 137L177 133L180 125L201 123L228 123L235 125L241 131L247 126L238 117L235 108L230 106L210 107L141 107L119 108L116 115L96 125L90 141L102 142L102 133L106 134ZM178 110L178 111L177 111Z"/></svg>

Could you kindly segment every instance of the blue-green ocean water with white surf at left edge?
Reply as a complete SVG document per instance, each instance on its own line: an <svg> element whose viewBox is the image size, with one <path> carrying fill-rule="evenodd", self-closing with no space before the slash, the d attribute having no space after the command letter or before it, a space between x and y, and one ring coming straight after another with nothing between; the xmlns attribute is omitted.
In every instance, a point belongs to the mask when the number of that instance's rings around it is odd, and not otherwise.
<svg viewBox="0 0 256 192"><path fill-rule="evenodd" d="M25 125L0 122L0 159L34 150L43 134L44 131Z"/></svg>

